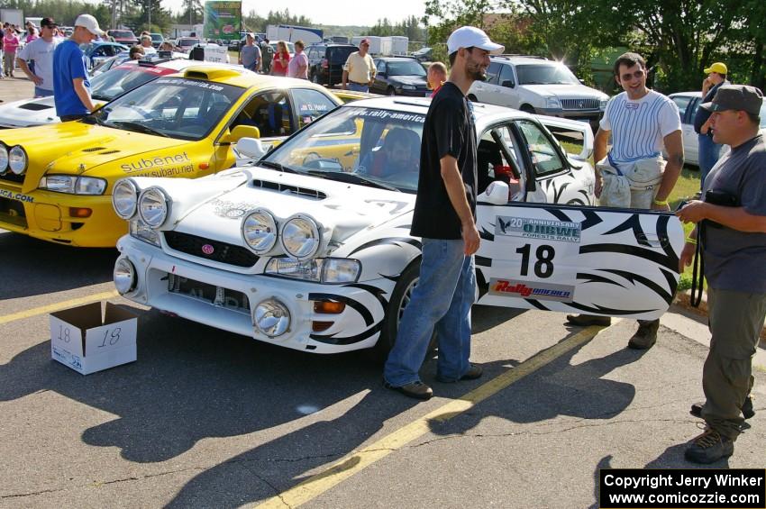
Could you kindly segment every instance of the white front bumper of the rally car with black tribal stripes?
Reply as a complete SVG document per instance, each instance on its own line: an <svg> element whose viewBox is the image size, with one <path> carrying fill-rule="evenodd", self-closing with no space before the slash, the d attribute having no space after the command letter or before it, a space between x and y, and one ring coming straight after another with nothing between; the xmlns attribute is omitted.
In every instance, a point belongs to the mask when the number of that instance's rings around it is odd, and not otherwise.
<svg viewBox="0 0 766 509"><path fill-rule="evenodd" d="M136 303L258 341L312 353L360 350L378 341L386 302L368 288L387 286L388 279L364 285L322 285L235 273L171 256L130 235L118 241L117 249L118 261L127 259L135 268L134 289L123 296ZM278 300L290 314L287 332L278 337L269 337L253 324L253 309L269 299ZM317 313L317 302L345 306L339 314Z"/></svg>

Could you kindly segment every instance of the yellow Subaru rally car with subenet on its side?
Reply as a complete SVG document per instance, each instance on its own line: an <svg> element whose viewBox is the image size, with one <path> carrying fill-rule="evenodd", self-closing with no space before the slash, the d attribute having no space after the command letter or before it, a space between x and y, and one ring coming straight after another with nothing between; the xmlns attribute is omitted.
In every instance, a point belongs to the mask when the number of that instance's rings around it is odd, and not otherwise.
<svg viewBox="0 0 766 509"><path fill-rule="evenodd" d="M0 131L0 228L81 247L114 246L122 177L203 177L340 105L322 86L204 65L133 89L78 122Z"/></svg>

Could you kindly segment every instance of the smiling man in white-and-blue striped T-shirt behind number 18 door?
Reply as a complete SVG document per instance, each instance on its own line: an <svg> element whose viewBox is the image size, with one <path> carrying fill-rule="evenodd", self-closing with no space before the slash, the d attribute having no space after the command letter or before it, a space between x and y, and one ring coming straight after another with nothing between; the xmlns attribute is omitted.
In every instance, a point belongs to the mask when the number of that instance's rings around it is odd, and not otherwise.
<svg viewBox="0 0 766 509"><path fill-rule="evenodd" d="M668 196L676 185L684 152L679 108L659 92L646 87L646 63L632 52L615 62L615 80L624 92L606 104L596 140L596 195L599 204L668 211ZM611 137L612 145L607 151ZM662 146L668 152L662 159ZM569 314L573 325L608 325L608 316ZM628 341L637 350L652 348L660 320L639 320Z"/></svg>

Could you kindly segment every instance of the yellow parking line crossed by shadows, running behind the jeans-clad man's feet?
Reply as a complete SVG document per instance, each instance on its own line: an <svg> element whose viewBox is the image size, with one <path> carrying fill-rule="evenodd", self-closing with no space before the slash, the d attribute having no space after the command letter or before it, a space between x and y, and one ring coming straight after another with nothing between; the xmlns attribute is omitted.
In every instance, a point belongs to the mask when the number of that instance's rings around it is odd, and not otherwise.
<svg viewBox="0 0 766 509"><path fill-rule="evenodd" d="M443 404L430 414L425 414L414 422L406 424L406 426L399 428L397 431L388 434L388 436L383 437L379 441L370 444L363 450L352 452L351 455L341 459L332 467L327 468L313 477L309 477L302 483L280 493L279 495L269 498L269 500L257 505L257 508L281 509L284 507L296 507L305 504L317 496L322 495L333 486L340 484L345 479L357 474L362 469L369 467L369 465L375 463L378 459L387 457L395 450L404 447L407 443L430 432L431 428L428 423L431 421L449 421L452 417L470 410L489 396L497 394L507 386L532 374L537 369L543 368L543 366L558 359L568 351L592 340L597 336L598 332L602 330L602 327L588 327L587 329L574 334L570 338L555 344L548 350L541 351L515 368L508 369L502 375L492 378L486 384L461 396L460 399L451 400L449 403Z"/></svg>

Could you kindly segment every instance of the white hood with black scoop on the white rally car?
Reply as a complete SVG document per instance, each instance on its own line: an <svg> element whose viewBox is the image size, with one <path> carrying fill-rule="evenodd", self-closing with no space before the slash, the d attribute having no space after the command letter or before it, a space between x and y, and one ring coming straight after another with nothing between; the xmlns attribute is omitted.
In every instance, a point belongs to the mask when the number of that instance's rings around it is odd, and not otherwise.
<svg viewBox="0 0 766 509"><path fill-rule="evenodd" d="M174 213L178 214L178 219L172 222L177 223L174 230L242 245L242 217L248 211L259 207L268 209L278 226L294 214L305 214L313 217L322 227L322 256L358 232L368 231L402 214L411 213L415 206L415 195L264 168L233 169L219 176L205 177L205 181L213 189L216 181L231 179L240 172L244 175L240 183L246 180L246 185L223 193L213 191L204 202L192 202L189 206L194 206L194 209L191 211L185 211L186 207L180 204L180 210ZM186 190L181 186L178 186L178 191L173 190L176 181L162 180L167 182L162 187L174 200L173 207L176 207L177 196L186 201ZM200 180L195 182L202 183Z"/></svg>

